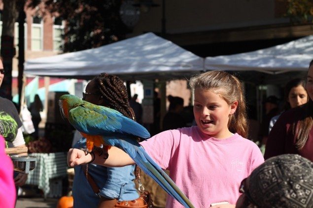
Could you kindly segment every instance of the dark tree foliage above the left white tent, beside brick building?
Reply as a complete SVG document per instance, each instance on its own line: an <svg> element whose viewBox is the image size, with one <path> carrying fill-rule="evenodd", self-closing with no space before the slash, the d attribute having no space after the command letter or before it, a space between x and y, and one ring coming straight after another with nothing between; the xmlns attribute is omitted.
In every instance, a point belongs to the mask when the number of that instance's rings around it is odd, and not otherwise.
<svg viewBox="0 0 313 208"><path fill-rule="evenodd" d="M38 0L31 0L35 8ZM121 0L45 0L45 9L66 20L64 52L99 47L125 38L129 29L119 16Z"/></svg>

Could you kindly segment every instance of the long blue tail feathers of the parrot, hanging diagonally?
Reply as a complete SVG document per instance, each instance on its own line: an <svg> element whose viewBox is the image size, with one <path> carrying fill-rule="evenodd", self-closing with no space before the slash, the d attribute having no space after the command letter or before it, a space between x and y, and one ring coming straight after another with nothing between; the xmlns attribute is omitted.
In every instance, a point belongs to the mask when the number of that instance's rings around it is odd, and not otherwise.
<svg viewBox="0 0 313 208"><path fill-rule="evenodd" d="M169 195L185 208L194 208L174 181L156 164L140 144L130 138L103 137L106 144L123 149L149 177L153 178Z"/></svg>

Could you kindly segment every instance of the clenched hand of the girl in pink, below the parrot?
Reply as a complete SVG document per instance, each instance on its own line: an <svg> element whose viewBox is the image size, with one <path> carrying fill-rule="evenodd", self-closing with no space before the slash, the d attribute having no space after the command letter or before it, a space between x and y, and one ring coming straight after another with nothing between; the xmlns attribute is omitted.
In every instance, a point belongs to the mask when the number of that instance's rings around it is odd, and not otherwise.
<svg viewBox="0 0 313 208"><path fill-rule="evenodd" d="M68 152L68 166L74 167L76 165L82 165L90 162L92 159L91 154L85 154L80 149L70 149Z"/></svg>

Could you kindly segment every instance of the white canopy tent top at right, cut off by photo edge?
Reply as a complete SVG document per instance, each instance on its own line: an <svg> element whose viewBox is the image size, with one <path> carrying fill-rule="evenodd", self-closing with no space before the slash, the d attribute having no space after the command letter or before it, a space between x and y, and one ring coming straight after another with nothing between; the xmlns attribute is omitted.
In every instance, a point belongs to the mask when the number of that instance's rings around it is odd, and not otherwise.
<svg viewBox="0 0 313 208"><path fill-rule="evenodd" d="M206 70L259 71L269 74L307 71L313 59L313 35L248 53L207 57Z"/></svg>

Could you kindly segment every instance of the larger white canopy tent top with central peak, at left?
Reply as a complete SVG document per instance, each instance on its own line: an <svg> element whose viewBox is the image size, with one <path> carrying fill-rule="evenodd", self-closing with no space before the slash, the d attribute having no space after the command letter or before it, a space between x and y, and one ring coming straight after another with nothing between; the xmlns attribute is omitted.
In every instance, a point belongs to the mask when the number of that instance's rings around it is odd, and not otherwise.
<svg viewBox="0 0 313 208"><path fill-rule="evenodd" d="M125 80L173 79L203 70L204 59L151 32L99 48L29 59L25 74L92 78L100 73Z"/></svg>

